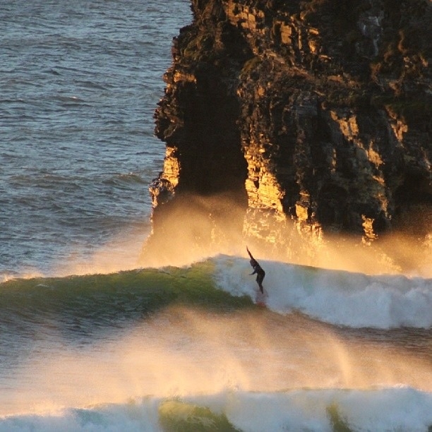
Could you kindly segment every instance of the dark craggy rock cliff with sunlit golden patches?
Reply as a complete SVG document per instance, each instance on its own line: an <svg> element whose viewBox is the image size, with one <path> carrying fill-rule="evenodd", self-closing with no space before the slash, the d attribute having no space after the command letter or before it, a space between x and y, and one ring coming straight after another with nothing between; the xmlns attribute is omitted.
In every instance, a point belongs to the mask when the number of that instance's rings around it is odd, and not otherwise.
<svg viewBox="0 0 432 432"><path fill-rule="evenodd" d="M192 10L155 113L167 156L146 247L178 237L179 218L198 247L243 231L291 256L294 233L370 244L395 229L424 246L431 1L192 0Z"/></svg>

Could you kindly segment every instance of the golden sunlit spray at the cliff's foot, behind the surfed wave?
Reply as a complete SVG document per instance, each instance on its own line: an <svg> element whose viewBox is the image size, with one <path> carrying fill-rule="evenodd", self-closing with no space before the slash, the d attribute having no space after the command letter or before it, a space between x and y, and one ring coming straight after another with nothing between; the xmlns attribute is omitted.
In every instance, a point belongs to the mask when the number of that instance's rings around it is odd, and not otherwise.
<svg viewBox="0 0 432 432"><path fill-rule="evenodd" d="M156 235L145 243L139 265L188 265L220 253L247 257L247 245L261 259L284 263L367 275L432 277L432 243L427 236L420 248L418 236L396 230L376 241L362 241L359 235L300 234L294 221L282 224L269 218L265 226L282 239L281 246L248 236L244 217L244 208L229 196L177 199L169 213L157 219Z"/></svg>

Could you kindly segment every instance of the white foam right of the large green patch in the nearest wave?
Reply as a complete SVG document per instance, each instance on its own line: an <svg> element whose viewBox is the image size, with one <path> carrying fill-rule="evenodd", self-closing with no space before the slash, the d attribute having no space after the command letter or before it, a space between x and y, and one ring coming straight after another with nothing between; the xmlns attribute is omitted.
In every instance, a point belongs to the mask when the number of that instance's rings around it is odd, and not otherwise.
<svg viewBox="0 0 432 432"><path fill-rule="evenodd" d="M235 398L225 410L242 431L331 431L331 407L355 431L427 431L432 424L432 395L411 388L295 390Z"/></svg>

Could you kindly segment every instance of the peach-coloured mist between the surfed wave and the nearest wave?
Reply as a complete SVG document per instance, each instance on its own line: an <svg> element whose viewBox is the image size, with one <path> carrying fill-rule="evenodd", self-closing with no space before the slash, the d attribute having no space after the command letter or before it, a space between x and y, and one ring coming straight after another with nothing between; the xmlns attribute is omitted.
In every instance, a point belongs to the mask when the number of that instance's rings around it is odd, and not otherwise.
<svg viewBox="0 0 432 432"><path fill-rule="evenodd" d="M285 320L267 312L220 315L168 308L109 341L64 349L52 359L40 344L32 364L16 374L21 387L8 392L7 400L1 398L2 414L23 405L43 412L142 395L209 395L227 388L368 390L404 383L431 392L430 357L397 349L397 337L383 349L376 337L356 341L301 316ZM404 337L402 332L398 337ZM41 373L35 375L35 368Z"/></svg>

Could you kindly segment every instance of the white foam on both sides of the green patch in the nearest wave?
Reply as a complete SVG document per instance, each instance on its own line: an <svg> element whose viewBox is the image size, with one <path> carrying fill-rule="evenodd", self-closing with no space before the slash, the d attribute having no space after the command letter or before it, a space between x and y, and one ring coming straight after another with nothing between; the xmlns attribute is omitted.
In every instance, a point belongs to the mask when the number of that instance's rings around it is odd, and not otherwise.
<svg viewBox="0 0 432 432"><path fill-rule="evenodd" d="M223 413L235 428L249 432L332 431L335 419L355 431L424 432L432 425L432 394L412 388L276 393L227 390L183 401L208 407L214 414ZM0 432L157 432L162 431L158 422L161 402L145 397L56 414L8 416L0 418Z"/></svg>

